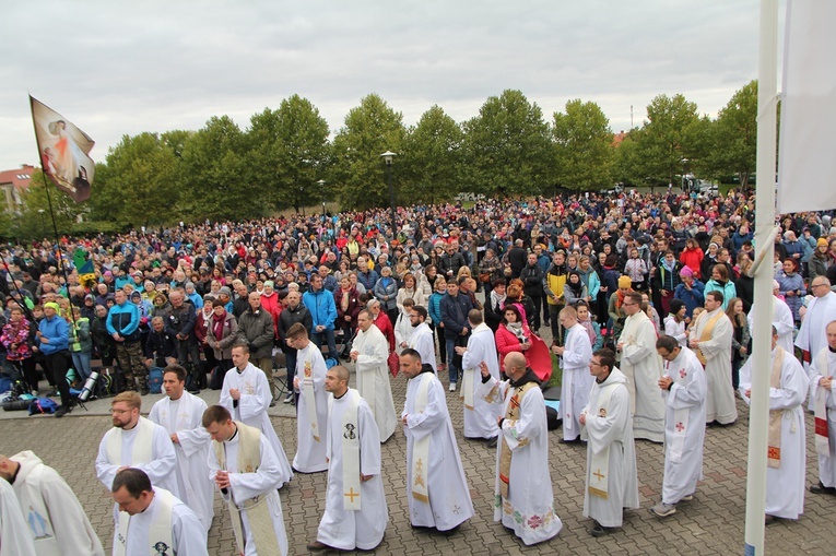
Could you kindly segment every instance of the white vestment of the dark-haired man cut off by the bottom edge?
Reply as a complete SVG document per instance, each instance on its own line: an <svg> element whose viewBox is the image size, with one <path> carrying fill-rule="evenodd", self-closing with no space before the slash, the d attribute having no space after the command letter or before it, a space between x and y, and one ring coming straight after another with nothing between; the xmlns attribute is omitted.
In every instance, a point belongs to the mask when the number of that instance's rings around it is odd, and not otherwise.
<svg viewBox="0 0 836 556"><path fill-rule="evenodd" d="M152 524L157 519L161 510L161 488L154 487L154 499L145 511L130 517L128 522L128 536L125 542L125 556L149 556L158 542L150 537ZM114 527L119 528L119 512L114 508ZM207 549L207 531L203 524L188 506L178 498L174 498L172 506L172 541L174 546L168 546L164 554L177 554L177 556L209 556ZM114 543L117 543L114 540ZM174 551L174 552L172 552ZM116 551L114 551L116 554ZM163 554L163 553L161 553Z"/></svg>

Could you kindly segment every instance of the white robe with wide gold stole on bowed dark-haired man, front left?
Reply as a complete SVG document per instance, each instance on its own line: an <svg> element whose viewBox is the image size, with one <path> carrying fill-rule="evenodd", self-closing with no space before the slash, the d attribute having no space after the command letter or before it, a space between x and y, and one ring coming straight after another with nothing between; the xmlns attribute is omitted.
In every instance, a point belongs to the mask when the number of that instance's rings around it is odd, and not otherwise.
<svg viewBox="0 0 836 556"><path fill-rule="evenodd" d="M239 423L239 422L238 422ZM236 423L237 425L237 423ZM245 427L238 426L233 437L222 442L224 468L229 472L229 488L226 493L221 492L221 496L224 501L232 504L238 509L240 513L229 511L232 519L238 519L240 521L233 525L233 532L237 524L243 528L243 535L245 539L245 556L258 556L260 554L275 554L278 545L282 556L287 554L287 533L284 529L284 517L282 514L282 500L279 498L276 488L282 486L284 481L284 470L282 469L282 462L273 451L272 442L267 438L263 433L258 435L258 447L256 448L255 436L251 429L257 427L250 427L250 430L243 430ZM215 475L221 471L221 464L219 463L215 454L215 443L212 445L209 459L209 477L214 483ZM257 456L254 451L258 450ZM258 464L252 465L252 469L239 469L239 454L251 453L258 458ZM254 504L255 508L245 509ZM266 506L264 506L266 505ZM272 535L270 535L270 528L272 525ZM266 529L266 533L257 534L261 539L267 539L272 546L258 546L257 541L254 537L254 528ZM237 533L235 533L237 535ZM237 543L237 539L236 539ZM263 542L263 544L268 544Z"/></svg>

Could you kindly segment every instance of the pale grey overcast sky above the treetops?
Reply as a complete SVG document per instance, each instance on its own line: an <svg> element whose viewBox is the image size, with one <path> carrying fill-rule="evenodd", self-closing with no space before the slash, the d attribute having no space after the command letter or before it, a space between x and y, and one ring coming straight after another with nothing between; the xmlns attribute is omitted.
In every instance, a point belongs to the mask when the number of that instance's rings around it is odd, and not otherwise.
<svg viewBox="0 0 836 556"><path fill-rule="evenodd" d="M246 129L293 94L331 133L369 93L408 126L434 104L467 120L506 88L546 120L569 99L593 100L614 132L640 126L662 93L714 117L756 78L758 10L757 0L0 0L0 169L37 163L27 94L92 137L96 162L125 134L221 115Z"/></svg>

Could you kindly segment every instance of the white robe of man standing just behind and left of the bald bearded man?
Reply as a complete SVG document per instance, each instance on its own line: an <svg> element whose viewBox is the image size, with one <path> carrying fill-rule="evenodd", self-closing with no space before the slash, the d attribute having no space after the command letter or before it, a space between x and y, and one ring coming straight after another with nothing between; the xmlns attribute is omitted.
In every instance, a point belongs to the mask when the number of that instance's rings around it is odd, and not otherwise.
<svg viewBox="0 0 836 556"><path fill-rule="evenodd" d="M491 376L499 380L499 358L491 327L484 322L473 329L468 339L468 351L461 357L461 390L464 401L464 438L493 438L497 435L496 417L502 413L502 399L479 395L484 362Z"/></svg>

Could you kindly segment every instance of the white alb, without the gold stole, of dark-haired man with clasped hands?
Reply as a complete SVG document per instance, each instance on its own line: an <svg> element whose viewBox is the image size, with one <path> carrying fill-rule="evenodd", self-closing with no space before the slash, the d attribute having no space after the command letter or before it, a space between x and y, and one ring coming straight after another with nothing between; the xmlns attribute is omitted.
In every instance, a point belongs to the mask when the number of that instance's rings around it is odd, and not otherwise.
<svg viewBox="0 0 836 556"><path fill-rule="evenodd" d="M263 502L267 504L270 521L273 524L273 532L275 533L275 539L279 541L279 549L281 551L282 556L286 556L287 533L284 529L282 500L276 492L276 488L282 486L282 482L284 481L284 470L282 469L281 460L273 451L272 442L270 442L267 436L262 433L261 436L259 436L260 463L258 469L255 472L240 472L238 470L238 448L240 446L240 438L242 435L236 433L233 438L223 443L226 458L226 471L229 472L229 488L226 494L221 493L221 496L224 501L228 501L231 499L229 497L232 497L232 501L238 508L242 508L244 502L252 498L264 497L266 499ZM207 462L209 463L209 478L214 483L215 474L221 470L214 450L210 450ZM236 519L236 516L233 516L232 518ZM259 553L259 547L256 546L256 542L252 539L252 531L249 525L247 510L242 509L240 520L246 536L245 556L275 554L275 552L271 552L271 547L262 547ZM272 547L272 549L274 551L274 547Z"/></svg>

